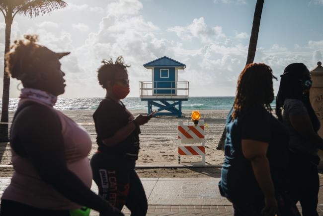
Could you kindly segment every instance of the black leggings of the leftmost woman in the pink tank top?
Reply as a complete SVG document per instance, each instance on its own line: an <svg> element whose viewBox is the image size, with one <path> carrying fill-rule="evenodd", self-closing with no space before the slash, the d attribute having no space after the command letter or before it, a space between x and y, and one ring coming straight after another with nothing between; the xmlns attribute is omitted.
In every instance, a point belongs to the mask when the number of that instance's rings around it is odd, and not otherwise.
<svg viewBox="0 0 323 216"><path fill-rule="evenodd" d="M44 210L11 200L1 200L0 216L70 216L70 211Z"/></svg>

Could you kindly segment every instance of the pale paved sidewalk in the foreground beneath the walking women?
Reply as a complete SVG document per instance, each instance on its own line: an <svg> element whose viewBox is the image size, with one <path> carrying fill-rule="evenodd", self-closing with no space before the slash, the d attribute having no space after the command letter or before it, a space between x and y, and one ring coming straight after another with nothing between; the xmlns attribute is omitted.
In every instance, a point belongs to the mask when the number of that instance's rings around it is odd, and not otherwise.
<svg viewBox="0 0 323 216"><path fill-rule="evenodd" d="M148 199L148 216L232 216L232 205L221 197L219 178L141 178ZM0 178L0 196L10 178ZM95 183L92 191L97 193ZM126 215L130 212L123 209ZM323 216L323 202L318 212ZM95 211L91 216L99 216Z"/></svg>

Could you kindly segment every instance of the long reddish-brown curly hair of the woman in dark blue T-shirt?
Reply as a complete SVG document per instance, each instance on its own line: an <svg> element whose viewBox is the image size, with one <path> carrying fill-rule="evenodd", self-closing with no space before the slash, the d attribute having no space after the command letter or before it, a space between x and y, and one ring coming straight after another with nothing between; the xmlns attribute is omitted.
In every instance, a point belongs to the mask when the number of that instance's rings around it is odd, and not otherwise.
<svg viewBox="0 0 323 216"><path fill-rule="evenodd" d="M263 63L251 63L242 70L238 83L234 111L235 119L243 110L252 107L264 107L272 111L270 103L274 100L272 70Z"/></svg>

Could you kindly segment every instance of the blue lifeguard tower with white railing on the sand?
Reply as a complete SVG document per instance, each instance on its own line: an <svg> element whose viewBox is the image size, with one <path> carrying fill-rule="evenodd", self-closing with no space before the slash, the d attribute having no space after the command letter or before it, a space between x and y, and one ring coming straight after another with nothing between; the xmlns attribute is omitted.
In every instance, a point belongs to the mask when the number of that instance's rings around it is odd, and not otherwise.
<svg viewBox="0 0 323 216"><path fill-rule="evenodd" d="M178 70L186 65L168 58L161 57L143 65L152 70L152 82L140 82L140 98L148 102L148 113L153 106L158 108L155 115L182 116L182 101L188 100L189 82L177 81Z"/></svg>

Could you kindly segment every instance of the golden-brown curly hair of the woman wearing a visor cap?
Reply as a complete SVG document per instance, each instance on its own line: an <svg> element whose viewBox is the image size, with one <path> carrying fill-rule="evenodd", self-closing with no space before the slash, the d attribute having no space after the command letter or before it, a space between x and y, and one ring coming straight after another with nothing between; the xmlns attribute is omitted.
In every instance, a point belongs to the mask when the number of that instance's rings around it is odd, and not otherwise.
<svg viewBox="0 0 323 216"><path fill-rule="evenodd" d="M15 40L10 52L5 55L5 71L12 78L32 82L32 74L38 69L44 56L55 57L55 53L37 44L38 35L24 35L24 40Z"/></svg>

